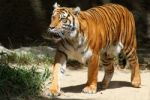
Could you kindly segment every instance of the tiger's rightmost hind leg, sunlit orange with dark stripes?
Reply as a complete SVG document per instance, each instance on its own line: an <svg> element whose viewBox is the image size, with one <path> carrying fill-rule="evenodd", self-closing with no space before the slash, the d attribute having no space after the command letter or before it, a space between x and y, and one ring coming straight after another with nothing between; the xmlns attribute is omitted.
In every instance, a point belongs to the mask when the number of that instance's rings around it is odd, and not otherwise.
<svg viewBox="0 0 150 100"><path fill-rule="evenodd" d="M126 50L125 54L131 67L131 84L134 87L139 87L141 84L141 77L136 50L134 48Z"/></svg>

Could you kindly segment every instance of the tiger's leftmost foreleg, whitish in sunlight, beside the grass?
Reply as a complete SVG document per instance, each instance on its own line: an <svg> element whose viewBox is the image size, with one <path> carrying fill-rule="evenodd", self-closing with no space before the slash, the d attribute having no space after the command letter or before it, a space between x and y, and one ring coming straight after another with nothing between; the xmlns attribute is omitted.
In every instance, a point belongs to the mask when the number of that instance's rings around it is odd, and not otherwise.
<svg viewBox="0 0 150 100"><path fill-rule="evenodd" d="M60 95L60 78L62 77L61 74L64 73L66 68L66 56L62 53L57 51L55 55L55 61L53 64L53 77L52 77L52 84L49 89L49 95L58 96Z"/></svg>

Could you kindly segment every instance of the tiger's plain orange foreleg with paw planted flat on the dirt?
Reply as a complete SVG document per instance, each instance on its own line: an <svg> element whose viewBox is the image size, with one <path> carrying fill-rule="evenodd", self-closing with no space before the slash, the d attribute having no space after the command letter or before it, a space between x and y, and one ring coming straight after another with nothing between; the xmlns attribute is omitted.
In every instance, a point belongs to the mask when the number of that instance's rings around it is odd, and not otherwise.
<svg viewBox="0 0 150 100"><path fill-rule="evenodd" d="M88 63L88 81L83 89L84 93L96 93L98 69L99 55L93 54Z"/></svg>

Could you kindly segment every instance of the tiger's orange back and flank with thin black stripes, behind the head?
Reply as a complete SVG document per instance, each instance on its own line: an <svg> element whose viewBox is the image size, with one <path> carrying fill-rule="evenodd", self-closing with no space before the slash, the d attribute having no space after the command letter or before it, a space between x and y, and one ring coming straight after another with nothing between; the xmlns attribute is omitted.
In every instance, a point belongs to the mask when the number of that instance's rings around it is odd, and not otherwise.
<svg viewBox="0 0 150 100"><path fill-rule="evenodd" d="M96 48L95 46L97 49L107 48L107 46L116 45L119 42L125 47L136 48L134 18L125 7L106 4L83 11L80 16L87 21L88 33L86 35L91 40L91 48ZM101 40L98 43L100 47L96 43L94 44L95 39Z"/></svg>

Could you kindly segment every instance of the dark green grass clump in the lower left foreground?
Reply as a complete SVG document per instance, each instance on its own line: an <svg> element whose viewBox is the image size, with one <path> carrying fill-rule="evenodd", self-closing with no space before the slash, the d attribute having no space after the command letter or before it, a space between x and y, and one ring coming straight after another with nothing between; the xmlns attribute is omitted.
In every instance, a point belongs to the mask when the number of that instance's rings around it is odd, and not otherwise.
<svg viewBox="0 0 150 100"><path fill-rule="evenodd" d="M49 76L48 68L37 72L34 66L27 69L0 64L0 97L39 95Z"/></svg>

